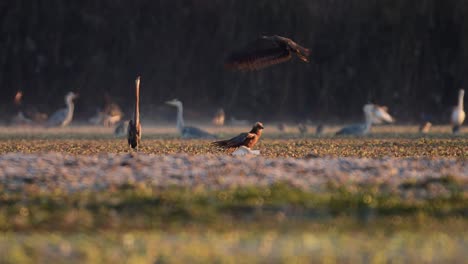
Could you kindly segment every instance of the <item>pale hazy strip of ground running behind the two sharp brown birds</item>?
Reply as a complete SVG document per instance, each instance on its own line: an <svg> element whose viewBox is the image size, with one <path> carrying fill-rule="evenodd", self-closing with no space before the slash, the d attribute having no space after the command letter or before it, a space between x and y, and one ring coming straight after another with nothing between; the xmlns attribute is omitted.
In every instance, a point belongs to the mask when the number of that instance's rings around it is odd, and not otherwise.
<svg viewBox="0 0 468 264"><path fill-rule="evenodd" d="M235 126L213 126L207 124L195 124L210 133L219 136L231 136L241 132L247 132L253 124L235 125ZM278 123L264 123L264 136L273 138L314 138L316 125L309 124L308 132L305 135L300 135L297 125L293 123L285 123L285 130L278 129ZM348 124L349 125L349 124ZM175 124L145 124L142 123L143 137L154 138L177 138L177 129ZM341 129L342 125L324 125L322 137L332 137L335 132ZM374 125L368 137L388 137L388 136L403 136L403 137L452 137L451 127L448 125L433 125L428 134L418 132L418 126L415 125ZM89 126L89 125L73 125L63 128L44 128L41 126L0 126L0 136L2 137L58 137L58 138L112 138L113 127ZM460 129L461 137L468 137L468 126L462 126ZM459 135L459 136L460 136Z"/></svg>

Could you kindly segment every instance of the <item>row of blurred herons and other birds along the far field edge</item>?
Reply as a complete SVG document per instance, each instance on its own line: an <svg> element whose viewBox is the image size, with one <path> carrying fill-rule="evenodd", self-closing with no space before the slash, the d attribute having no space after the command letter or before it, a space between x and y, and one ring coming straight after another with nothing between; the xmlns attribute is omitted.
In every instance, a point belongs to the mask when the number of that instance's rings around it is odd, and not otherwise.
<svg viewBox="0 0 468 264"><path fill-rule="evenodd" d="M452 132L454 134L460 132L460 127L463 124L466 117L463 106L464 94L465 91L463 89L460 89L458 94L458 104L453 108L452 114L450 116ZM15 104L21 105L22 96L22 92L18 92L15 95ZM66 107L59 109L52 115L50 115L50 117L47 120L45 120L45 126L68 126L73 120L73 112L75 109L73 101L77 97L78 95L74 92L67 93L65 96ZM181 101L173 99L167 101L166 104L174 106L177 109L176 127L182 138L216 138L215 135L206 132L200 128L185 125L183 117L183 104ZM338 132L336 132L336 135L365 135L369 133L373 124L381 124L383 122L394 122L394 118L388 113L387 107L384 106L379 106L376 104L366 104L363 107L363 112L364 123L344 127ZM119 106L115 103L108 103L103 110L98 110L96 115L89 119L89 122L96 125L116 126L115 133L117 135L124 135L127 133L126 122L128 121L123 121L122 117L123 112L120 110ZM40 121L44 121L44 114L37 113L37 111L25 111L23 109L20 109L17 115L12 119L12 123L14 124L33 124L35 122ZM225 113L223 109L217 110L215 116L212 119L212 123L218 126L222 126L225 123ZM420 131L422 133L429 132L431 125L432 124L430 122L422 124ZM304 124L299 124L298 128L301 133L303 133L303 131L307 131L307 128ZM279 129L281 130L280 126ZM317 127L317 134L320 134L322 129L322 125L319 125L319 127Z"/></svg>

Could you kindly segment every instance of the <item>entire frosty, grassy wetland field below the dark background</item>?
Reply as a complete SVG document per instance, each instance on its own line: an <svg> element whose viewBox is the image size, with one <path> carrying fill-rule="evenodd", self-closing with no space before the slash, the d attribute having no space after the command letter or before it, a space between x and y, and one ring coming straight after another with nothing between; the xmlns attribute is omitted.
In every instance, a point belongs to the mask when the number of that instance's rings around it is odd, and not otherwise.
<svg viewBox="0 0 468 264"><path fill-rule="evenodd" d="M464 263L467 128L336 129L266 124L233 157L171 126L137 152L111 128L0 127L0 263Z"/></svg>

